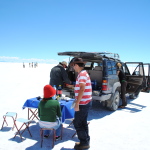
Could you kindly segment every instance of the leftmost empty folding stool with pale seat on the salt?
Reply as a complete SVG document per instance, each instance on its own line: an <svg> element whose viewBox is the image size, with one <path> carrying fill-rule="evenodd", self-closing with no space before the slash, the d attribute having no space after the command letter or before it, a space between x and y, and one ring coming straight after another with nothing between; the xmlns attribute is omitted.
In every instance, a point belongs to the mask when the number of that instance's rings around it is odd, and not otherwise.
<svg viewBox="0 0 150 150"><path fill-rule="evenodd" d="M4 123L6 123L6 125L8 126L8 123L6 121L6 117L12 117L13 119L13 127L12 127L12 130L14 129L14 125L15 125L15 120L17 118L17 113L16 112L7 112L3 118L4 118L4 121L3 121L3 124L2 124L2 127L1 127L1 130L3 129L3 126L4 126Z"/></svg>

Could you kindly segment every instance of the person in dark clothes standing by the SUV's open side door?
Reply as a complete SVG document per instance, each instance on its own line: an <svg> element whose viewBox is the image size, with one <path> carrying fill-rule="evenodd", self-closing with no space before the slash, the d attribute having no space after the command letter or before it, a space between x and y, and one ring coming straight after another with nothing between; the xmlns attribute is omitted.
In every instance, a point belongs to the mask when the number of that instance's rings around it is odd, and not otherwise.
<svg viewBox="0 0 150 150"><path fill-rule="evenodd" d="M127 100L126 100L126 87L127 87L127 81L126 81L126 76L124 71L121 68L121 63L117 63L117 74L119 77L119 81L121 83L121 100L122 100L122 105L119 106L119 108L125 108L127 106Z"/></svg>

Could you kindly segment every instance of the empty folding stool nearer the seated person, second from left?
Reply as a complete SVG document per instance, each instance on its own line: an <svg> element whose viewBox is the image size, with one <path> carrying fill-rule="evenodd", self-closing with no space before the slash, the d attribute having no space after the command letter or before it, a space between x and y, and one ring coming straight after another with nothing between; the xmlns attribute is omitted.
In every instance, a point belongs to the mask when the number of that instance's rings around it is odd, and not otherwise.
<svg viewBox="0 0 150 150"><path fill-rule="evenodd" d="M16 132L14 138L16 137L17 134L19 134L19 136L20 136L20 138L21 138L21 140L22 140L22 134L23 134L23 132L24 132L26 129L28 130L30 136L32 137L31 132L30 132L30 130L29 130L29 124L31 123L31 121L32 121L32 120L28 120L28 119L24 119L24 118L18 118L18 119L16 119L15 122L14 122L14 125L15 125L15 127L16 127L16 129L17 129L17 132ZM16 122L21 122L21 123L23 123L23 124L21 125L20 128L18 128ZM24 125L25 125L26 127L25 127L24 130L21 132L21 129L23 128Z"/></svg>

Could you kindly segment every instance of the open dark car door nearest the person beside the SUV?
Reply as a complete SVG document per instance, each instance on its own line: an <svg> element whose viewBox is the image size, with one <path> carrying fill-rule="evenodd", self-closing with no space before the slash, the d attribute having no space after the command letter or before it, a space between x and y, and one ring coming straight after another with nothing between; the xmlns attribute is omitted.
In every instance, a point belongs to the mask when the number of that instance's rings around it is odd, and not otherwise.
<svg viewBox="0 0 150 150"><path fill-rule="evenodd" d="M126 62L123 65L126 75L126 92L138 96L139 92L146 87L146 77L142 62Z"/></svg>

